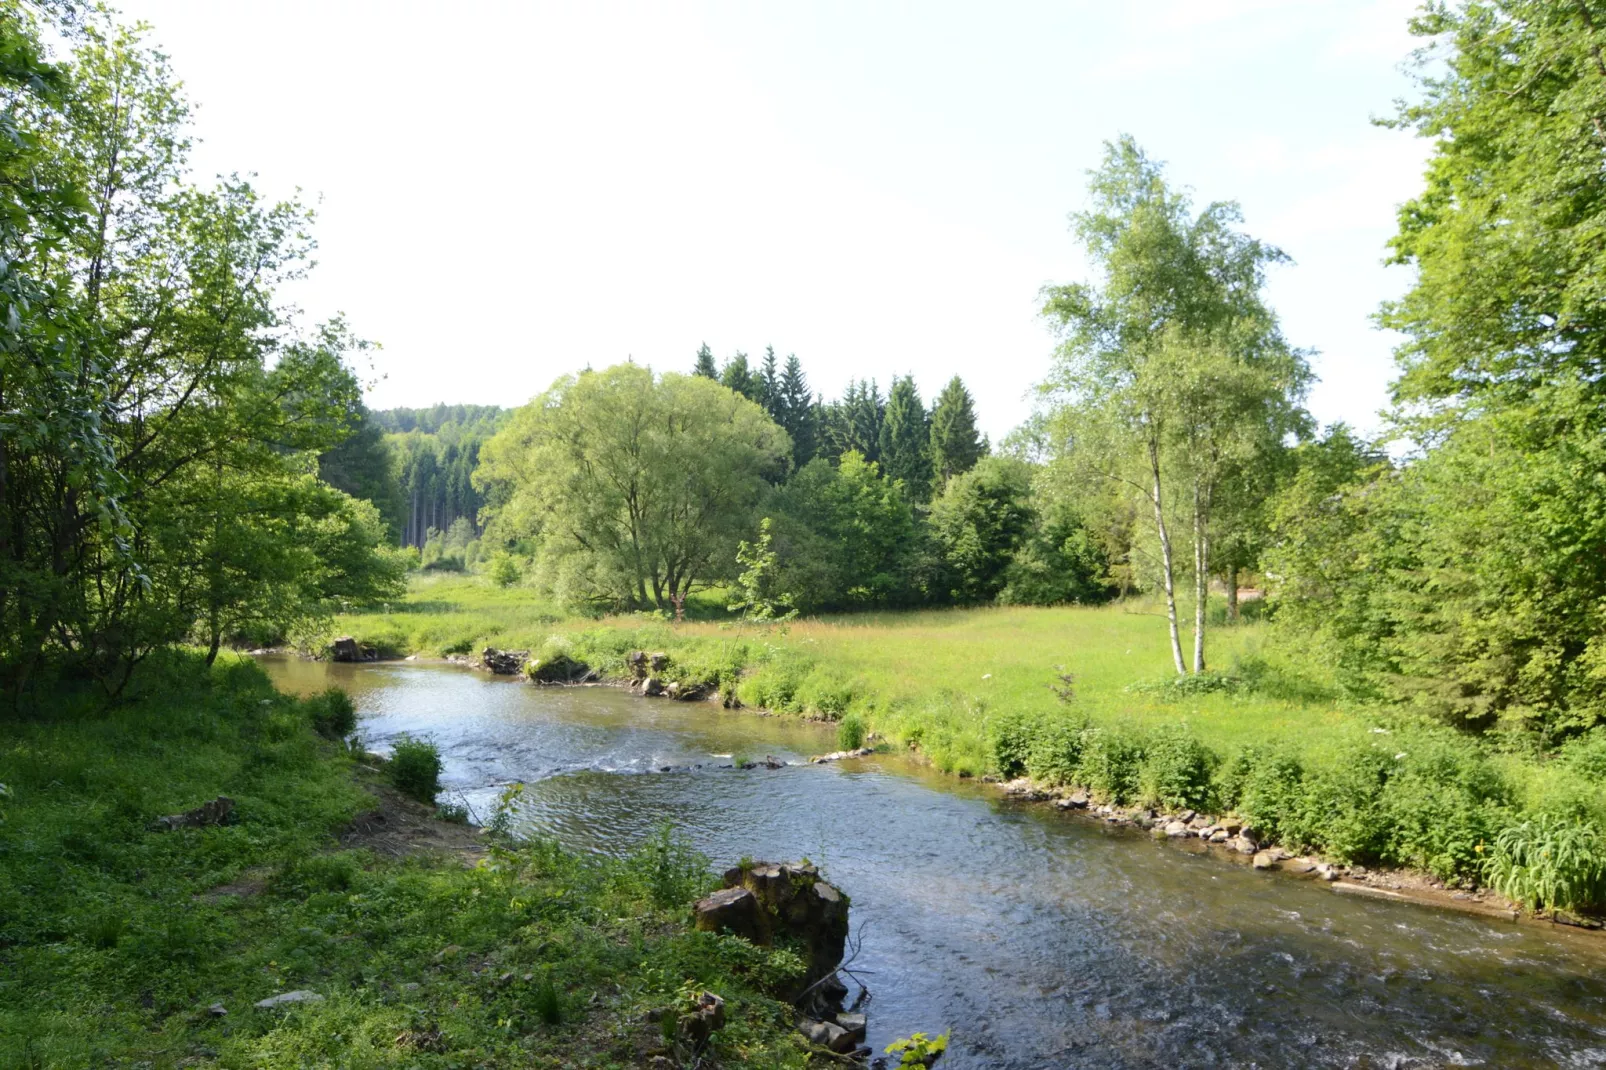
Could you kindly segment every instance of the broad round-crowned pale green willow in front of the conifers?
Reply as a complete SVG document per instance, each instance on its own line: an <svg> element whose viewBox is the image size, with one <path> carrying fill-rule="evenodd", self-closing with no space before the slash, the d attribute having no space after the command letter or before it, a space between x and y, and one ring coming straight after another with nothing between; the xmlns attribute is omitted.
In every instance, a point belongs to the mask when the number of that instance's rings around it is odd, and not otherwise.
<svg viewBox="0 0 1606 1070"><path fill-rule="evenodd" d="M540 540L569 601L675 607L729 578L787 434L702 376L615 365L560 378L480 450L499 538Z"/></svg>

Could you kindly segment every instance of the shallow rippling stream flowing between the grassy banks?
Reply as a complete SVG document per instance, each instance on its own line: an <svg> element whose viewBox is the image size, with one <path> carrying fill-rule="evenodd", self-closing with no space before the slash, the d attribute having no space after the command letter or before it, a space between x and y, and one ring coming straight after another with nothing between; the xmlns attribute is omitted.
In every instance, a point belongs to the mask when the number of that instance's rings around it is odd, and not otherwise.
<svg viewBox="0 0 1606 1070"><path fill-rule="evenodd" d="M814 725L450 665L265 664L347 688L377 750L432 736L480 813L525 781L522 819L570 847L622 853L670 819L719 866L821 863L853 896L877 1049L951 1028L948 1070L1606 1065L1603 937L1335 895L893 757L718 768L832 750Z"/></svg>

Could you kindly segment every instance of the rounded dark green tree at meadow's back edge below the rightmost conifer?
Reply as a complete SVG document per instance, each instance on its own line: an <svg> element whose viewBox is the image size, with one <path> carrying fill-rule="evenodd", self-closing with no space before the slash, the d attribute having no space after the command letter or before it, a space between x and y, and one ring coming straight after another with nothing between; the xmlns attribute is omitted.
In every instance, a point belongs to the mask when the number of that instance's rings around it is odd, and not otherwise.
<svg viewBox="0 0 1606 1070"><path fill-rule="evenodd" d="M948 480L931 503L931 533L946 564L949 598L997 598L1036 525L1031 496L1031 466L1015 458L986 458Z"/></svg>

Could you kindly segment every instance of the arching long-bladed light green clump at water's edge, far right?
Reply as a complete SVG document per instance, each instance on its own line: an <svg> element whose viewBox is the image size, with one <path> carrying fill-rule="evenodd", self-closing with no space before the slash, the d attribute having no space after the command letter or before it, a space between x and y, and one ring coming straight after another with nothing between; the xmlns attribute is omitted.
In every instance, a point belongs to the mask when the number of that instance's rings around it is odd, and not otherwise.
<svg viewBox="0 0 1606 1070"><path fill-rule="evenodd" d="M1484 876L1529 906L1596 906L1606 901L1606 843L1577 818L1539 815L1495 837Z"/></svg>

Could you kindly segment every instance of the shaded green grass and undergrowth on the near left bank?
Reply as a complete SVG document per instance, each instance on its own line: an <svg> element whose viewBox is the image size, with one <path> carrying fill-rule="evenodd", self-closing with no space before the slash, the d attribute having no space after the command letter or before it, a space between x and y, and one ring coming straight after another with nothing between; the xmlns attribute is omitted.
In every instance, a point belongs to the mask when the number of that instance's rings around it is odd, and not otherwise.
<svg viewBox="0 0 1606 1070"><path fill-rule="evenodd" d="M377 789L331 717L173 657L117 709L0 721L0 1067L634 1067L647 1012L703 986L718 1065L803 1065L763 994L795 956L689 929L705 860L666 834L623 861L344 850ZM220 794L231 824L148 829ZM324 999L252 1006L289 990Z"/></svg>

